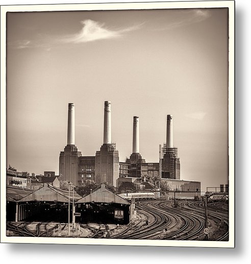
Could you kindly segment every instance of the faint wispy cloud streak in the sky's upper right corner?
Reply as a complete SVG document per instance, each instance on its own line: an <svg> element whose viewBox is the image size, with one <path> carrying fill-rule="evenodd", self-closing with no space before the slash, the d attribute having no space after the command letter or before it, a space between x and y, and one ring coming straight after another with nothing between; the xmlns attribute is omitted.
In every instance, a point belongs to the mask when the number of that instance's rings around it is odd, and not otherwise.
<svg viewBox="0 0 251 264"><path fill-rule="evenodd" d="M194 9L191 11L184 11L182 16L179 16L176 21L170 22L167 26L159 28L157 30L169 30L180 28L203 21L211 16L211 13L207 9Z"/></svg>

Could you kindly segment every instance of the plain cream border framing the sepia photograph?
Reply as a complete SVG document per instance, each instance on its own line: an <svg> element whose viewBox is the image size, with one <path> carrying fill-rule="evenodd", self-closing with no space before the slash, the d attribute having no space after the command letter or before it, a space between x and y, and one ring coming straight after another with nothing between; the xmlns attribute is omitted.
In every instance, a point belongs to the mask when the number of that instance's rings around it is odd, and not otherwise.
<svg viewBox="0 0 251 264"><path fill-rule="evenodd" d="M6 236L6 15L7 12L144 10L184 8L229 9L229 241L158 241L105 238L56 238ZM1 243L127 245L168 247L235 247L235 2L146 2L102 4L52 4L1 6Z"/></svg>

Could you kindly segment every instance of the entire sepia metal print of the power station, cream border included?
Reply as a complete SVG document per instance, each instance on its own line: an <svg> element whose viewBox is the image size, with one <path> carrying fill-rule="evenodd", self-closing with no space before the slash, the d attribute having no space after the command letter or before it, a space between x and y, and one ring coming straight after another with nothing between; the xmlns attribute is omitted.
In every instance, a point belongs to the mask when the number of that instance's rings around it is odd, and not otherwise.
<svg viewBox="0 0 251 264"><path fill-rule="evenodd" d="M1 242L233 248L234 12L1 6Z"/></svg>

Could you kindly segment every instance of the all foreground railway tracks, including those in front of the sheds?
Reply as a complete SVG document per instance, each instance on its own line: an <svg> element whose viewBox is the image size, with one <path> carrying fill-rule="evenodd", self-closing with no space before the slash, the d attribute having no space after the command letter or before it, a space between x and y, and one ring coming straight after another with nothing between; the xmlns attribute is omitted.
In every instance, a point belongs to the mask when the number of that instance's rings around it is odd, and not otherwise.
<svg viewBox="0 0 251 264"><path fill-rule="evenodd" d="M92 233L89 237L189 241L205 238L203 232L205 228L204 202L180 202L179 207L173 208L171 201L141 201L136 203L136 208L141 218L135 225L128 225L120 233L110 236L108 236L108 225L99 225L98 228L87 225ZM228 241L228 205L222 202L209 204L208 219L215 229L214 241ZM30 226L30 224L27 222L19 224L7 223L7 230L13 231L15 235L20 236L48 237L52 236L54 229L57 228L57 224L51 228L48 228L49 223L38 222L36 226ZM66 224L62 227L62 230L65 227ZM218 228L217 230L216 227Z"/></svg>

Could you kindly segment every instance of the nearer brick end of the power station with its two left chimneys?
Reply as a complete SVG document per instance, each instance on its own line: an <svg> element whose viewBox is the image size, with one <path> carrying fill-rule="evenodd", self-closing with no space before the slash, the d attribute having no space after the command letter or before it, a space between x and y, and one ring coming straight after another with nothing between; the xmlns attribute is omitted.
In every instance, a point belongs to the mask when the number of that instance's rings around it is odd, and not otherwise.
<svg viewBox="0 0 251 264"><path fill-rule="evenodd" d="M62 180L84 186L86 180L116 185L119 177L119 156L111 142L111 102L105 102L104 143L95 156L82 156L75 146L74 104L68 105L67 146L59 156L59 174Z"/></svg>

